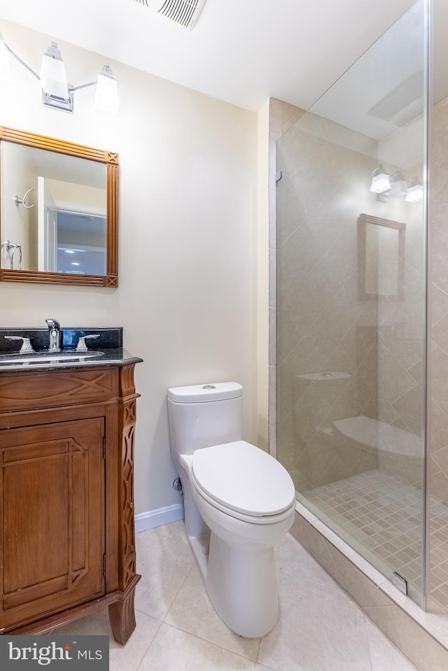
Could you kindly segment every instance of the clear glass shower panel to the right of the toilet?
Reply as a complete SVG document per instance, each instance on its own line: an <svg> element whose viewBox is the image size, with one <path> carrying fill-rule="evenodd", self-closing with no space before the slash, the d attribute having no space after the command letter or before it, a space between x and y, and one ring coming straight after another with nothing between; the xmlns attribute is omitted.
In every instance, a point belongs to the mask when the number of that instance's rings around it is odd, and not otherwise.
<svg viewBox="0 0 448 671"><path fill-rule="evenodd" d="M277 456L298 500L419 605L425 13L419 0L277 143Z"/></svg>

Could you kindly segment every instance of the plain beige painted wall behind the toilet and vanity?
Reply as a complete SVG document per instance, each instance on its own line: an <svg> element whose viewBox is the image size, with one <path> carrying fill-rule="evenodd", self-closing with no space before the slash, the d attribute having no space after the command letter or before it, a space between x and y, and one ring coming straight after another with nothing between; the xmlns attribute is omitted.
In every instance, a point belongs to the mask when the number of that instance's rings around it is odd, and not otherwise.
<svg viewBox="0 0 448 671"><path fill-rule="evenodd" d="M39 68L55 36L6 22L3 38ZM104 64L59 43L73 85ZM179 503L169 456L169 386L237 380L244 438L256 440L257 117L193 90L111 62L120 111L75 94L75 113L41 104L38 81L13 62L0 83L0 123L120 154L117 290L0 285L1 325L123 325L137 365L137 513Z"/></svg>

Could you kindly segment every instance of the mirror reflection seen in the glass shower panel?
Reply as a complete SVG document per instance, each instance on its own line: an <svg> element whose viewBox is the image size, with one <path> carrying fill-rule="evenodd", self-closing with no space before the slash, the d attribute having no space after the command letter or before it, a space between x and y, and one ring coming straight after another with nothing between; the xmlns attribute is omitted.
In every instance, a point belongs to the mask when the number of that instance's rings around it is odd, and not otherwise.
<svg viewBox="0 0 448 671"><path fill-rule="evenodd" d="M406 225L368 214L358 225L360 298L402 298Z"/></svg>

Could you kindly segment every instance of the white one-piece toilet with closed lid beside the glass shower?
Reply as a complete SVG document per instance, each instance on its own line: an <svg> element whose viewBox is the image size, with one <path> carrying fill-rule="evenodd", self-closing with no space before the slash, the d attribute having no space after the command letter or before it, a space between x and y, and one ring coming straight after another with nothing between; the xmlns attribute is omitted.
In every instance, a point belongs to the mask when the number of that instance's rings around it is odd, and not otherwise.
<svg viewBox="0 0 448 671"><path fill-rule="evenodd" d="M171 454L185 528L216 612L258 638L279 616L276 549L295 514L283 466L241 440L243 389L235 382L168 390Z"/></svg>

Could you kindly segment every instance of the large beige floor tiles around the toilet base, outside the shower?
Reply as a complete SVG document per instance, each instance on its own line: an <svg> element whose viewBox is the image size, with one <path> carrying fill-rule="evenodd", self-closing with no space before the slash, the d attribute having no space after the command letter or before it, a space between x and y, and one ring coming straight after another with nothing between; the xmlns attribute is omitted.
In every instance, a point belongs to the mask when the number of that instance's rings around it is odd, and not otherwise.
<svg viewBox="0 0 448 671"><path fill-rule="evenodd" d="M261 640L232 633L209 602L183 522L137 535L137 628L111 638L111 671L416 671L287 535L277 560L279 623ZM57 630L110 634L107 609Z"/></svg>

